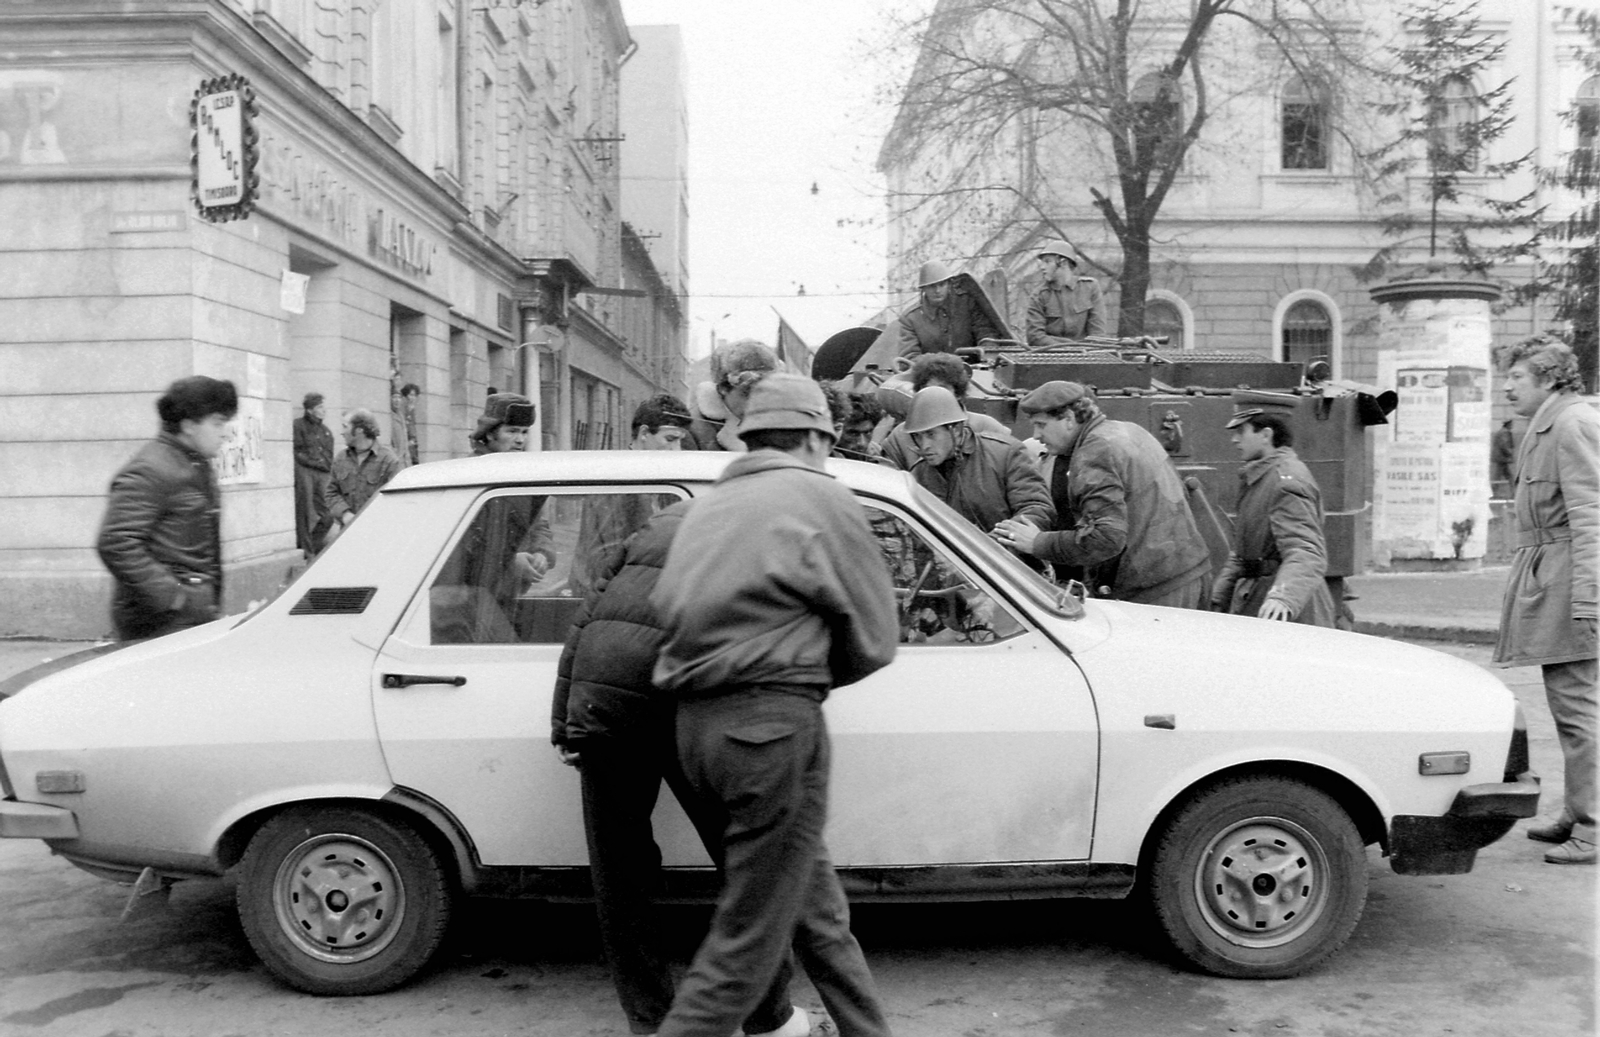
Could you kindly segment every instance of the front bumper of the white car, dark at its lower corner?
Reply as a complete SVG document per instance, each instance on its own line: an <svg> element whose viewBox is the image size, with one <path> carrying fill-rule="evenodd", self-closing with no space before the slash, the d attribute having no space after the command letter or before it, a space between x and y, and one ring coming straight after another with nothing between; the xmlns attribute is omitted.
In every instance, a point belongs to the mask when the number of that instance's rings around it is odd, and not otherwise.
<svg viewBox="0 0 1600 1037"><path fill-rule="evenodd" d="M1443 815L1395 815L1389 866L1398 875L1464 875L1480 848L1538 813L1539 778L1533 773L1467 786Z"/></svg>

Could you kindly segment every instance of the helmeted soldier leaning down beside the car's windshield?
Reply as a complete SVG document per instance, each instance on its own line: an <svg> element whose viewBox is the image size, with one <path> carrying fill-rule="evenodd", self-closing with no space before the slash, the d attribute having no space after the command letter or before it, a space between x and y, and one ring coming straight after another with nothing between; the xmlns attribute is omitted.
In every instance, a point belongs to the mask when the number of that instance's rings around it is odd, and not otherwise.
<svg viewBox="0 0 1600 1037"><path fill-rule="evenodd" d="M1010 435L968 424L955 394L944 386L917 392L906 418L917 450L910 475L984 533L1005 518L1050 528L1056 509L1027 450Z"/></svg>

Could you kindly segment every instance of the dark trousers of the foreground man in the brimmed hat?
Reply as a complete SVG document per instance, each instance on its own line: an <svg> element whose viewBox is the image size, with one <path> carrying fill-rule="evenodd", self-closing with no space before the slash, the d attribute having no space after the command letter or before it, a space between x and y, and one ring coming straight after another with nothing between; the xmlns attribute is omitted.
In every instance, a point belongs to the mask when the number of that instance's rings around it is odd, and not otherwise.
<svg viewBox="0 0 1600 1037"><path fill-rule="evenodd" d="M821 688L757 685L678 703L678 760L720 810L723 888L661 1037L728 1037L794 946L840 1037L888 1037L822 842Z"/></svg>

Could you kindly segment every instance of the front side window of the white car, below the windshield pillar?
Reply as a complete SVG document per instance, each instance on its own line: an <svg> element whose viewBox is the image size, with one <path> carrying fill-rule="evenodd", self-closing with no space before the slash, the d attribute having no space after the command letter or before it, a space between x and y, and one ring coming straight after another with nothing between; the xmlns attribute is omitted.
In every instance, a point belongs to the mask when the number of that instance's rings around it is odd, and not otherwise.
<svg viewBox="0 0 1600 1037"><path fill-rule="evenodd" d="M1022 634L1000 602L904 518L864 504L894 581L902 645L984 645Z"/></svg>

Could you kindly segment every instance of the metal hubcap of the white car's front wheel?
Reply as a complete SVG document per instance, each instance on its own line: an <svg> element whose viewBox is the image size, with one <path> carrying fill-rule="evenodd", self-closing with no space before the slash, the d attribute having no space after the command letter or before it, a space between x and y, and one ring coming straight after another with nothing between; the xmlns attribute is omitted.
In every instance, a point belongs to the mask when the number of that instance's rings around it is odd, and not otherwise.
<svg viewBox="0 0 1600 1037"><path fill-rule="evenodd" d="M1216 839L1195 867L1206 923L1245 947L1299 936L1328 899L1328 858L1306 829L1283 818L1250 818Z"/></svg>

